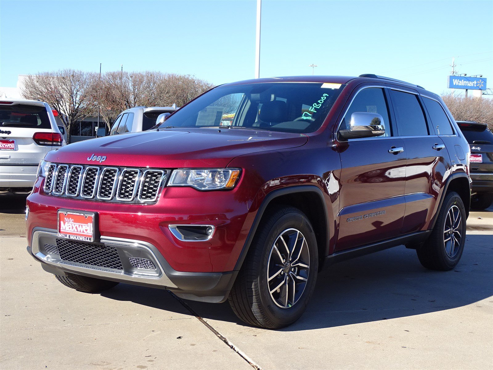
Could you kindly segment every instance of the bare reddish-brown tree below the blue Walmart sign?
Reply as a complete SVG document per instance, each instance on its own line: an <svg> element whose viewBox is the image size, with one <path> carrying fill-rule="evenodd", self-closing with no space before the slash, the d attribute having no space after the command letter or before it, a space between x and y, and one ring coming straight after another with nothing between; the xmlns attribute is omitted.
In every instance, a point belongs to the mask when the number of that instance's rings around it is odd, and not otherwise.
<svg viewBox="0 0 493 370"><path fill-rule="evenodd" d="M466 98L447 94L443 101L457 121L476 121L487 123L493 129L493 99Z"/></svg>

